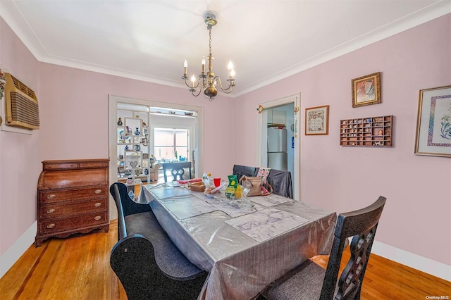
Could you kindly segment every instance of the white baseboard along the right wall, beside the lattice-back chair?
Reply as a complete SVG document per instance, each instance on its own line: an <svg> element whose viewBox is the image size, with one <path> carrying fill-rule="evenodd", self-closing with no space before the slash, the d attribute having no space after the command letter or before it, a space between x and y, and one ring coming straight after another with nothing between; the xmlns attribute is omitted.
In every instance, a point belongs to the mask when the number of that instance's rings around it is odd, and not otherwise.
<svg viewBox="0 0 451 300"><path fill-rule="evenodd" d="M420 270L435 277L451 281L451 265L433 261L430 258L419 256L376 241L373 242L371 253L388 258L391 261L396 261L402 265L407 265L410 268Z"/></svg>

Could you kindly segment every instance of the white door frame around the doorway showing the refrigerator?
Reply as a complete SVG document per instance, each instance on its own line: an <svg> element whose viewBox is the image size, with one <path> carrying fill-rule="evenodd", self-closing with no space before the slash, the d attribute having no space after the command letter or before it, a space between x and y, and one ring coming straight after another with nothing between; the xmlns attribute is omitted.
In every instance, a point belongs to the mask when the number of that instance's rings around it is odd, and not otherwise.
<svg viewBox="0 0 451 300"><path fill-rule="evenodd" d="M299 134L299 131L300 131L299 107L301 104L301 94L300 93L259 104L262 107L264 107L264 109L263 109L263 111L261 111L261 113L259 113L259 115L257 117L257 162L259 162L260 165L264 165L264 162L266 161L264 156L262 155L263 153L266 154L266 148L267 148L267 146L266 146L266 132L267 132L266 127L267 127L267 125L266 124L268 123L268 114L267 114L267 111L265 108L273 108L276 106L281 106L281 105L290 104L290 103L294 104L294 106L295 106L295 109L293 111L293 114L295 117L295 155L294 155L295 157L294 157L294 162L293 162L295 174L293 175L294 178L293 178L293 182L292 182L293 198L297 201L300 201L301 200L301 197L300 197L300 187L301 187L300 138L301 138L301 135Z"/></svg>

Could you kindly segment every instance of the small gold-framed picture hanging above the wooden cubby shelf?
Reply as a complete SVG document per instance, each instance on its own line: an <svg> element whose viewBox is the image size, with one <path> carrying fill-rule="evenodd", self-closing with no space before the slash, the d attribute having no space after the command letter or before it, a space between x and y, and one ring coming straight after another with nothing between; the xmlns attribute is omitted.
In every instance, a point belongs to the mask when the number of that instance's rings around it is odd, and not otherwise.
<svg viewBox="0 0 451 300"><path fill-rule="evenodd" d="M352 107L381 103L381 72L351 80Z"/></svg>

